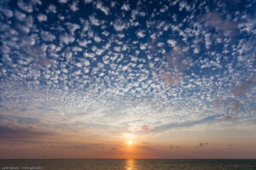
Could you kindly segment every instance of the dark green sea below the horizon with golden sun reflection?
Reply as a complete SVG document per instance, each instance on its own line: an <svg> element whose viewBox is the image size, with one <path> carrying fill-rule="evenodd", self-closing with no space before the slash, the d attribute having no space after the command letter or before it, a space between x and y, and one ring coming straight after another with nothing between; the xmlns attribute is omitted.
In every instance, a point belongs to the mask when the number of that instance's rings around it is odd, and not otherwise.
<svg viewBox="0 0 256 170"><path fill-rule="evenodd" d="M256 160L0 160L3 169L44 170L256 170Z"/></svg>

